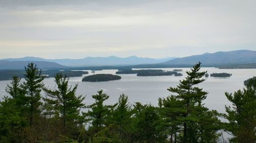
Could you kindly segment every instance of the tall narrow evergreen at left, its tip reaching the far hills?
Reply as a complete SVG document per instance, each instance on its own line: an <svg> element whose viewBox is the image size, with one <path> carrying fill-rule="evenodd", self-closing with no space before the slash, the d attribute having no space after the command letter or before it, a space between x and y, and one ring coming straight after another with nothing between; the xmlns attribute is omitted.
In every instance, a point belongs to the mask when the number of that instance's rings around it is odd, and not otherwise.
<svg viewBox="0 0 256 143"><path fill-rule="evenodd" d="M25 67L25 71L26 74L24 78L26 81L23 82L22 88L26 91L27 102L29 104L29 125L31 127L34 117L38 117L40 113L40 92L44 85L42 83L44 76L41 76L41 70L38 70L38 67L34 63L28 64L28 66Z"/></svg>

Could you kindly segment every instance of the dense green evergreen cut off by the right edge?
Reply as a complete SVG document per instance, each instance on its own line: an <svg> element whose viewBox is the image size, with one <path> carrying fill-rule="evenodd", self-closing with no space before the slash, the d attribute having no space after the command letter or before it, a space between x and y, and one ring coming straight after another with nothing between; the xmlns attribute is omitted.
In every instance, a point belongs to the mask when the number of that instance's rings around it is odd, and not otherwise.
<svg viewBox="0 0 256 143"><path fill-rule="evenodd" d="M226 106L224 115L229 121L225 128L234 136L230 142L256 142L256 80L249 79L246 88L225 95L233 105Z"/></svg>

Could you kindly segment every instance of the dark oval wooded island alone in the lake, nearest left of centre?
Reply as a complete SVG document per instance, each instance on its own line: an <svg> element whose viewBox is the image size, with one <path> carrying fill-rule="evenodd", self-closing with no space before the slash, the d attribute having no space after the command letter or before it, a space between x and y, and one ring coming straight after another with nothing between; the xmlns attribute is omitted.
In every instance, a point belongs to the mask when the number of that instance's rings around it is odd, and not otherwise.
<svg viewBox="0 0 256 143"><path fill-rule="evenodd" d="M119 80L121 76L114 74L94 74L82 78L82 81L98 82L98 81L110 81Z"/></svg>

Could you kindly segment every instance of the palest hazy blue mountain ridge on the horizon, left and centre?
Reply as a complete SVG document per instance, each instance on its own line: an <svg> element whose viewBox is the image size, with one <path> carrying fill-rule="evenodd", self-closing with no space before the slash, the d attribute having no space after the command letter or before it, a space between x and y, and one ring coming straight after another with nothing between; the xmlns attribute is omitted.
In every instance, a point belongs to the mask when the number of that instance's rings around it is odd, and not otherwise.
<svg viewBox="0 0 256 143"><path fill-rule="evenodd" d="M87 57L84 59L42 59L33 56L26 56L24 58L17 59L3 59L5 61L45 61L54 62L64 66L81 67L81 66L114 66L114 65L139 65L139 64L156 64L166 62L170 59L167 58L156 60L152 58L140 58L138 56L129 56L127 58L119 58L117 56L108 57Z"/></svg>

